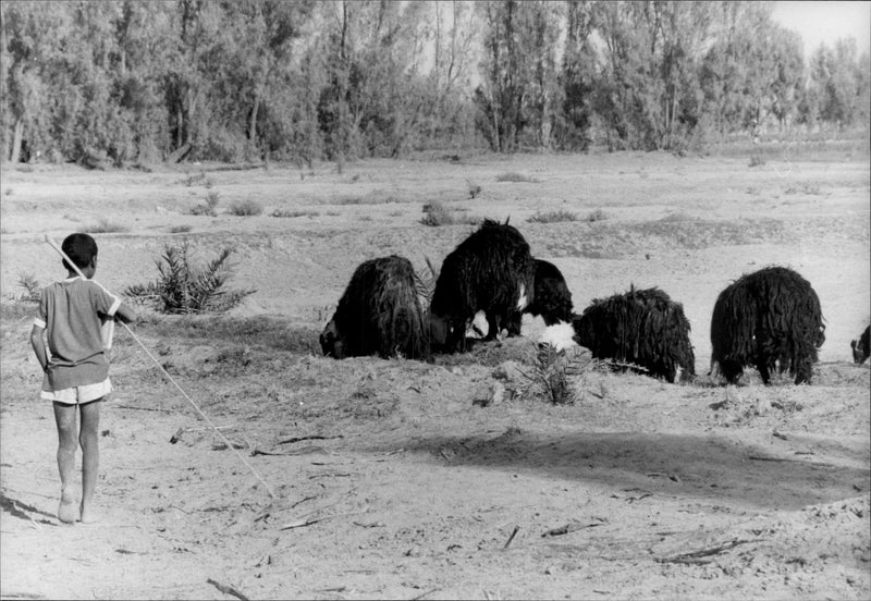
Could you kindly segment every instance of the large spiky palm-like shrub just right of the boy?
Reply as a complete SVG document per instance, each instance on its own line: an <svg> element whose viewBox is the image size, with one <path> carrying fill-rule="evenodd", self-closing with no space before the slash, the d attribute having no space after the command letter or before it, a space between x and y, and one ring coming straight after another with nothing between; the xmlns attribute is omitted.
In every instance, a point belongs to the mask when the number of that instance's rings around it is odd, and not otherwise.
<svg viewBox="0 0 871 601"><path fill-rule="evenodd" d="M192 265L191 245L167 245L157 260L159 277L144 285L127 287L125 294L132 298L156 304L157 309L168 314L223 312L237 306L254 294L254 290L224 290L232 275L228 259L231 248L224 248L218 258L205 267Z"/></svg>

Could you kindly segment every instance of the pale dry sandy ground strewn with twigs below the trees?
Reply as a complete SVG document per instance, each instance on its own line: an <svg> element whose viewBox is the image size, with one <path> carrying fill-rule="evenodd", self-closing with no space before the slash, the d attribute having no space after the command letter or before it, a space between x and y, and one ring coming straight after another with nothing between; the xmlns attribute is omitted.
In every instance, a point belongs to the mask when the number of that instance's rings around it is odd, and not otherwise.
<svg viewBox="0 0 871 601"><path fill-rule="evenodd" d="M4 167L0 597L871 598L871 370L849 348L871 321L868 148L749 157ZM191 214L209 196L217 216ZM262 213L233 214L246 200ZM522 338L429 364L320 356L359 262L395 253L422 270L474 229L421 224L432 200L510 218L578 312L630 284L667 292L697 381L593 369L573 349L577 398L550 404L527 378L543 328L529 316ZM552 211L578 219L529 221ZM62 525L20 281L64 277L46 235L95 229L96 279L115 292L154 280L182 240L203 260L231 246L231 286L257 292L220 317L140 308L133 327L238 454L119 328L102 519ZM763 387L750 370L722 385L708 375L714 299L769 265L820 296L813 384Z"/></svg>

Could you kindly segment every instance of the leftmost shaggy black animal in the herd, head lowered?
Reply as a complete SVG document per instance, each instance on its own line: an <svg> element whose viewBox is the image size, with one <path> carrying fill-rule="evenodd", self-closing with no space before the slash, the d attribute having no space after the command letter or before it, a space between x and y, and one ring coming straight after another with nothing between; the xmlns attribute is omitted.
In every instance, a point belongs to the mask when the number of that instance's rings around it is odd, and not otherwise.
<svg viewBox="0 0 871 601"><path fill-rule="evenodd" d="M427 358L424 311L412 262L392 255L360 263L320 334L324 355Z"/></svg>

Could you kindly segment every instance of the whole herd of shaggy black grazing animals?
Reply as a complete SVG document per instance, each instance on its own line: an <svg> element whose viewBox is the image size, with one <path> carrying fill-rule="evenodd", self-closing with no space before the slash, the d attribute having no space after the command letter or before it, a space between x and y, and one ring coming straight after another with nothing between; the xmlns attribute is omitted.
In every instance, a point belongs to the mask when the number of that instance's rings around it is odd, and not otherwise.
<svg viewBox="0 0 871 601"><path fill-rule="evenodd" d="M631 286L625 294L593 299L575 315L563 274L535 259L507 222L484 220L445 257L427 310L427 295L419 293L416 280L404 257L363 262L320 334L323 354L428 359L434 353L464 352L476 336L491 341L503 330L519 335L526 312L541 316L549 329L571 324L574 343L622 369L635 366L670 382L695 377L689 321L680 303L657 287ZM856 363L869 357L870 329L851 342ZM810 383L824 331L810 283L790 269L768 267L720 293L711 318L711 367L729 383L746 366L755 366L765 384L773 369L788 369L797 384Z"/></svg>

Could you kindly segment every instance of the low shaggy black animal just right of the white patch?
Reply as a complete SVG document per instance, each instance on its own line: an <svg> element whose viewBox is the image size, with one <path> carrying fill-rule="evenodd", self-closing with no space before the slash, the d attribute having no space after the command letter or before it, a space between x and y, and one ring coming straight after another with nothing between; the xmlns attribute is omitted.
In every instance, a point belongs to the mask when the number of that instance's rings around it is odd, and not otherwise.
<svg viewBox="0 0 871 601"><path fill-rule="evenodd" d="M659 289L631 286L625 294L593 299L572 326L575 342L589 348L597 359L631 364L670 382L675 381L678 368L680 381L696 375L684 307Z"/></svg>

